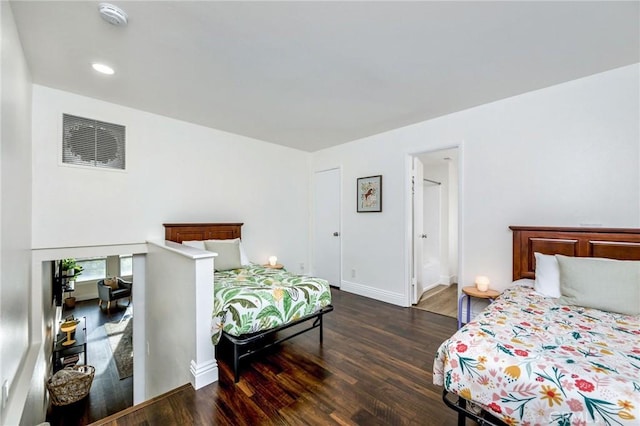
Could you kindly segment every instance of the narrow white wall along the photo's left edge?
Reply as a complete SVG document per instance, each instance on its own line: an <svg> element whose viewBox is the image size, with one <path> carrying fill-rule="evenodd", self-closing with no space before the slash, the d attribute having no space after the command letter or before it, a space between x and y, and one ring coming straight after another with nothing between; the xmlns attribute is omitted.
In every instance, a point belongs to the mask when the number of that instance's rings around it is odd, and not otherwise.
<svg viewBox="0 0 640 426"><path fill-rule="evenodd" d="M6 380L10 390L8 404L0 405L0 424L15 424L22 415L25 391L33 375L31 370L28 377L22 377L21 370L29 352L29 334L35 334L34 339L40 340L41 330L39 324L29 330L31 76L8 2L1 2L0 14L0 386ZM43 388L41 380L41 393Z"/></svg>

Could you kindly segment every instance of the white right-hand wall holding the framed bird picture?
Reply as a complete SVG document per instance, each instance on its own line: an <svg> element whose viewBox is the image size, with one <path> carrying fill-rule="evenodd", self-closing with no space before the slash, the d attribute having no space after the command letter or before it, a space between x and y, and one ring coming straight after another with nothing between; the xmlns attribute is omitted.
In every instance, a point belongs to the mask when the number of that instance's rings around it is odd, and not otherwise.
<svg viewBox="0 0 640 426"><path fill-rule="evenodd" d="M314 153L343 170L343 289L408 304L407 155L461 145L460 285L511 283L509 225L640 225L638 64ZM355 212L355 180L383 175L383 212Z"/></svg>

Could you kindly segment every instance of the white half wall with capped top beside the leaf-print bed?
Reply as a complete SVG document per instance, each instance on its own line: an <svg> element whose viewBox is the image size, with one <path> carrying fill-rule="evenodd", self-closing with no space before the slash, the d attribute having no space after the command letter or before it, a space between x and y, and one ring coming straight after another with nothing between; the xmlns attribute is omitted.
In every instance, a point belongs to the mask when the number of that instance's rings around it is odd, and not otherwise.
<svg viewBox="0 0 640 426"><path fill-rule="evenodd" d="M215 256L171 241L148 241L145 399L185 383L199 389L218 380L211 343Z"/></svg>

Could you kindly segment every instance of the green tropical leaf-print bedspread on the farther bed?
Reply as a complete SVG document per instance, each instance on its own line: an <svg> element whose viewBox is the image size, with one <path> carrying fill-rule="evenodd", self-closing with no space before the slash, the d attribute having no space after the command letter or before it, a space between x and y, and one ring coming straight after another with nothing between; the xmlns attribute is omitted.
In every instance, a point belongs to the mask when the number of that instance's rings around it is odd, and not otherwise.
<svg viewBox="0 0 640 426"><path fill-rule="evenodd" d="M251 265L214 274L211 340L256 333L310 315L331 304L329 283L284 269Z"/></svg>

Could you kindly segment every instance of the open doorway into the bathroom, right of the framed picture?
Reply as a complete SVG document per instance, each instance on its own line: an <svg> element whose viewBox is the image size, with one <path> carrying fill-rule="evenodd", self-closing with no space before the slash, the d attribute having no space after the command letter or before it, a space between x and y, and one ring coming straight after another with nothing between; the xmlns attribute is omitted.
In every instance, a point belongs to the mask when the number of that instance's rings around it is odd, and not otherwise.
<svg viewBox="0 0 640 426"><path fill-rule="evenodd" d="M412 158L412 306L457 317L459 149Z"/></svg>

